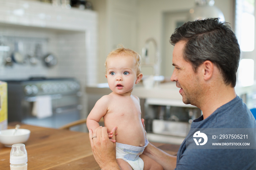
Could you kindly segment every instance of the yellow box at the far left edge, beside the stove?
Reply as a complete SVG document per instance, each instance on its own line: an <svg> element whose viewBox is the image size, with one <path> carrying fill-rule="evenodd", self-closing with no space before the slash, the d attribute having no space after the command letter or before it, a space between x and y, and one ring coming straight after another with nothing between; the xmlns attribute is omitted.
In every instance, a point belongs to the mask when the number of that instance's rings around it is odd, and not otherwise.
<svg viewBox="0 0 256 170"><path fill-rule="evenodd" d="M0 81L0 130L7 129L7 83Z"/></svg>

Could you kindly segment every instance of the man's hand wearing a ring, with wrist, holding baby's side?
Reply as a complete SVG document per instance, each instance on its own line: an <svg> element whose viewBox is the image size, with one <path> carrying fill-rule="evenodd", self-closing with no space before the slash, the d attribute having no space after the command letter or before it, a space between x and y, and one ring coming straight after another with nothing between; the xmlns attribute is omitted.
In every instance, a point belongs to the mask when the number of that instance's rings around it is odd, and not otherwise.
<svg viewBox="0 0 256 170"><path fill-rule="evenodd" d="M116 134L116 129L117 127L114 127L111 132ZM108 129L100 126L94 132L89 130L89 138L93 156L99 167L102 170L120 169L116 161L116 143L109 139ZM116 140L115 135L111 138L113 141Z"/></svg>

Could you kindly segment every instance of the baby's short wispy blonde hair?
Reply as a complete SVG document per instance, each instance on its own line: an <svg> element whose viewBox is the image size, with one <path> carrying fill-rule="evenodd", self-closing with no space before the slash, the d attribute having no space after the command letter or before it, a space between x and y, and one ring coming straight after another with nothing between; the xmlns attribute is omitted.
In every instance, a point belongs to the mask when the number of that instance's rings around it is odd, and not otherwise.
<svg viewBox="0 0 256 170"><path fill-rule="evenodd" d="M141 73L141 70L140 70L140 61L141 61L141 57L140 55L131 50L131 49L127 49L127 48L124 48L122 45L120 45L119 48L111 51L107 58L106 58L106 61L105 61L105 67L107 66L107 61L110 57L113 57L113 56L117 56L117 55L131 55L132 57L134 57L136 59L136 65L137 65L137 75Z"/></svg>

